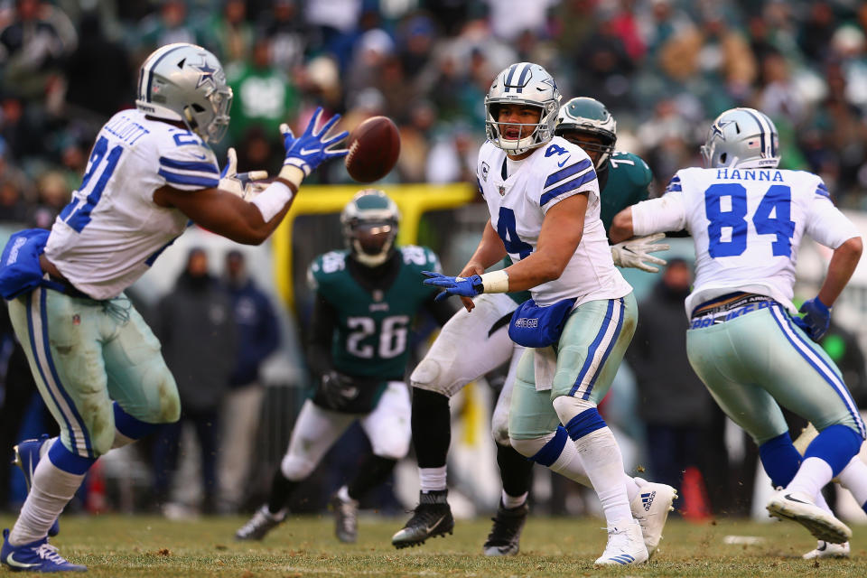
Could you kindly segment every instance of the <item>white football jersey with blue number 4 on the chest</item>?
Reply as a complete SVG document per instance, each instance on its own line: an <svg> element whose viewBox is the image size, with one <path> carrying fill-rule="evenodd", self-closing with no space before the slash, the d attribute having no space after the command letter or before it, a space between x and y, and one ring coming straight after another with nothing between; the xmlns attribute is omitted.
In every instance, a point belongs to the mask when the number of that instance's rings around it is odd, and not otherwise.
<svg viewBox="0 0 867 578"><path fill-rule="evenodd" d="M559 279L533 287L539 305L577 298L575 305L629 294L626 282L611 260L611 247L599 218L599 182L590 157L577 144L555 136L522 161L509 161L490 142L482 144L476 176L488 201L490 224L506 245L508 256L519 261L536 250L545 213L561 200L588 193L581 243Z"/></svg>

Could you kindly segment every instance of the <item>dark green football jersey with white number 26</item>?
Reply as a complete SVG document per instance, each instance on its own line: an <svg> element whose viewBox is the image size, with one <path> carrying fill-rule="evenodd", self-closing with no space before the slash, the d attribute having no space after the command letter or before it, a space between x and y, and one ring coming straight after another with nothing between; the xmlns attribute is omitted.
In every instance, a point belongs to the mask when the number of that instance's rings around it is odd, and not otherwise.
<svg viewBox="0 0 867 578"><path fill-rule="evenodd" d="M350 376L403 378L409 358L409 331L416 312L436 293L422 271L440 271L427 247L399 247L401 267L385 291L362 287L347 270L349 252L316 257L308 272L312 286L337 312L331 340L333 367Z"/></svg>

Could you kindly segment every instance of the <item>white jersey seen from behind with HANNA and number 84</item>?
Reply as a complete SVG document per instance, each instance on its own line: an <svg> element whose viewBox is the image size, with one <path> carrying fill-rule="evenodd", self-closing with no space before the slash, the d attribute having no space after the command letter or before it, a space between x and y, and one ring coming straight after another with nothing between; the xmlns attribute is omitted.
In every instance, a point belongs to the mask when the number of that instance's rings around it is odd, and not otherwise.
<svg viewBox="0 0 867 578"><path fill-rule="evenodd" d="M812 172L683 169L659 199L632 207L635 235L686 228L695 242L695 284L686 314L743 291L792 304L797 248L806 233L825 247L859 237Z"/></svg>

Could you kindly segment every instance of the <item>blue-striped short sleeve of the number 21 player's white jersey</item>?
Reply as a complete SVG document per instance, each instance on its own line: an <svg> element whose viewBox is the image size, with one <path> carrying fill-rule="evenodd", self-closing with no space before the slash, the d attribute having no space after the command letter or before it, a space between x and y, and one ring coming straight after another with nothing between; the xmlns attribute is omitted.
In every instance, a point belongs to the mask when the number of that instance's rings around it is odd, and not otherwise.
<svg viewBox="0 0 867 578"><path fill-rule="evenodd" d="M214 188L219 184L219 168L214 152L198 140L176 139L183 144L160 151L157 171L165 184L182 191Z"/></svg>

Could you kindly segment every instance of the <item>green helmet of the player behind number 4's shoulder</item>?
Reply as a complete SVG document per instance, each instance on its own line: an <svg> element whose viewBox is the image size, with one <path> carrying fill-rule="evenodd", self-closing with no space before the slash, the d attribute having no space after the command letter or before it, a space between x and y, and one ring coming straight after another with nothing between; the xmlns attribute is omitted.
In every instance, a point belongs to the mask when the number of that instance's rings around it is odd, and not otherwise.
<svg viewBox="0 0 867 578"><path fill-rule="evenodd" d="M597 169L601 169L614 152L617 122L599 100L577 97L560 107L554 134L577 144L585 151L599 153L594 164ZM582 138L583 135L595 136L601 140L601 144L588 142Z"/></svg>

